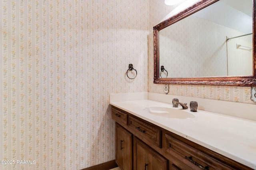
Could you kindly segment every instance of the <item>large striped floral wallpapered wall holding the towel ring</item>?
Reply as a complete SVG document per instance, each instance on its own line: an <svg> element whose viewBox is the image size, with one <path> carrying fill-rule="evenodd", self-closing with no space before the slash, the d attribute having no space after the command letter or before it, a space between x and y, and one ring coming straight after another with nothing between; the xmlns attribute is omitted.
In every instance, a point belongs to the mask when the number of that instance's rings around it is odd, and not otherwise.
<svg viewBox="0 0 256 170"><path fill-rule="evenodd" d="M0 1L0 160L36 163L0 169L78 170L115 158L109 94L147 91L148 3Z"/></svg>

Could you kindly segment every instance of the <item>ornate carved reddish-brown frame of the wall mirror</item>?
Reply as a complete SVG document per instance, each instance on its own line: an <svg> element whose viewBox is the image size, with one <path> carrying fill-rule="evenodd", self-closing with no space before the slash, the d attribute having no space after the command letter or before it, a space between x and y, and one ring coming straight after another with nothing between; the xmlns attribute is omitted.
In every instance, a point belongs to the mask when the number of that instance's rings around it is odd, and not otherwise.
<svg viewBox="0 0 256 170"><path fill-rule="evenodd" d="M227 86L256 86L256 6L255 1L252 2L252 43L253 43L253 62L252 62L252 76L215 76L215 77L193 77L193 78L160 78L159 70L159 31L172 25L173 23L182 20L183 18L217 2L218 0L200 0L192 6L186 8L180 13L162 21L158 25L154 26L154 83L156 84L197 84L197 85L227 85Z"/></svg>

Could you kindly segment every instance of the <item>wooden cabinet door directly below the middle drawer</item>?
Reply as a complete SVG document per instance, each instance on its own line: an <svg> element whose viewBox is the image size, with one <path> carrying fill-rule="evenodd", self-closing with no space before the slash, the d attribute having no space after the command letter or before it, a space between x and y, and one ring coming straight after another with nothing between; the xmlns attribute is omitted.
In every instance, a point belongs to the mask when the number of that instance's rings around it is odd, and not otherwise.
<svg viewBox="0 0 256 170"><path fill-rule="evenodd" d="M134 137L134 170L167 170L167 160Z"/></svg>

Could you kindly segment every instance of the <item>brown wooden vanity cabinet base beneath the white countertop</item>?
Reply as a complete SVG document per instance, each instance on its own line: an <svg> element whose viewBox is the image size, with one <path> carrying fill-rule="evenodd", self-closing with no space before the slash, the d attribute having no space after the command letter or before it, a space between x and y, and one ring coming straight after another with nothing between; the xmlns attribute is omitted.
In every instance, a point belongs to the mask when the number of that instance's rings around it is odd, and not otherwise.
<svg viewBox="0 0 256 170"><path fill-rule="evenodd" d="M111 115L121 170L252 170L117 107Z"/></svg>

